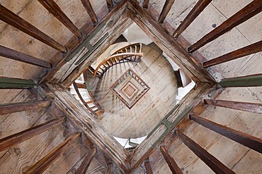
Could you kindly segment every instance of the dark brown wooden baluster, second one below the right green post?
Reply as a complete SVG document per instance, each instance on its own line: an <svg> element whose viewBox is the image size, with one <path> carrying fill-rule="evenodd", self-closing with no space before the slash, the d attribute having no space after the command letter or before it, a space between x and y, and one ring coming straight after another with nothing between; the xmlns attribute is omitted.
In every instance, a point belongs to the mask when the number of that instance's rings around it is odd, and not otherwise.
<svg viewBox="0 0 262 174"><path fill-rule="evenodd" d="M228 137L229 139L232 139L235 142L249 147L250 149L254 149L255 151L258 151L262 154L262 139L247 135L237 130L233 130L232 128L227 128L224 125L217 124L205 118L190 116L190 119L194 120L200 125L203 125L205 128L213 130L214 132L217 132L224 137Z"/></svg>

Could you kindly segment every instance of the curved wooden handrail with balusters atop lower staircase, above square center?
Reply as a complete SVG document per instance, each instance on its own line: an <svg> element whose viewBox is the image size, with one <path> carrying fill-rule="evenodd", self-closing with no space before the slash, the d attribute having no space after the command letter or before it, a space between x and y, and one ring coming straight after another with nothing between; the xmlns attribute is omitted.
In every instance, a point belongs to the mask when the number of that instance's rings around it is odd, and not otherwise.
<svg viewBox="0 0 262 174"><path fill-rule="evenodd" d="M109 67L111 67L111 66L114 66L115 64L118 64L118 63L120 63L120 61L122 61L122 60L126 60L126 61L132 61L132 60L128 60L127 58L129 58L129 57L132 57L132 56L139 56L139 58L140 57L142 57L142 56L144 56L144 54L143 53L121 53L121 54L113 54L112 56L109 56L108 58L106 58L105 60L103 60L101 63L99 63L99 65L96 67L96 70L93 72L93 75L96 75L96 73L98 72L98 70L101 68L101 66L103 66L103 64L104 63L107 63L108 61L111 61L111 65L109 65L108 63L108 68ZM115 60L115 58L116 57L120 57L119 58L119 62L115 62L115 63L113 63L113 61L112 61L112 59L114 58L114 60ZM138 60L137 61L139 61L139 58L138 58ZM134 60L134 61L136 61L136 60ZM104 67L106 67L106 66L104 66Z"/></svg>

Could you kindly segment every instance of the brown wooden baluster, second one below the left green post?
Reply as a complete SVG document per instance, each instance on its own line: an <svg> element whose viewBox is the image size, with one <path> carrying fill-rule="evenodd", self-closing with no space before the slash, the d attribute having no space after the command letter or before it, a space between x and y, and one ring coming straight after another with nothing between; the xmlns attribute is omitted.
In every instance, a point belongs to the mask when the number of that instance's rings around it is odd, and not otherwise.
<svg viewBox="0 0 262 174"><path fill-rule="evenodd" d="M0 151L4 151L5 149L16 146L17 144L24 142L27 139L35 137L36 135L39 135L42 132L45 132L54 128L57 125L62 124L64 121L65 118L55 118L54 120L50 120L46 123L42 123L27 130L23 130L22 132L18 132L8 137L4 137L3 139L0 139Z"/></svg>

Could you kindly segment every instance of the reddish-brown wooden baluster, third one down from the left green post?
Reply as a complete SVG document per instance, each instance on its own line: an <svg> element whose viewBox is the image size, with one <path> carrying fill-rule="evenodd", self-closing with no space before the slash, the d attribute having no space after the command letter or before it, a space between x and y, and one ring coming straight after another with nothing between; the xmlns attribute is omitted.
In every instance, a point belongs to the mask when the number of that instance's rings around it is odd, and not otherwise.
<svg viewBox="0 0 262 174"><path fill-rule="evenodd" d="M79 139L81 132L76 132L67 138L62 144L58 147L50 151L45 157L40 159L37 163L33 166L30 166L25 173L43 173L55 160L64 154L64 151L67 151L69 147L76 144L77 140Z"/></svg>

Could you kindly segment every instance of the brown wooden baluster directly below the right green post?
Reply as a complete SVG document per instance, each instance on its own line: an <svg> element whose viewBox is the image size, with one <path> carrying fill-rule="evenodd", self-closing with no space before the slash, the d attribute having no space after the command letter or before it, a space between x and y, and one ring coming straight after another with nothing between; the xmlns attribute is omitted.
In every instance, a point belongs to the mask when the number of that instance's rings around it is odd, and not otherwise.
<svg viewBox="0 0 262 174"><path fill-rule="evenodd" d="M262 104L239 102L239 101L225 101L204 99L204 104L219 106L223 108L232 108L240 111L247 111L252 113L262 113Z"/></svg>

